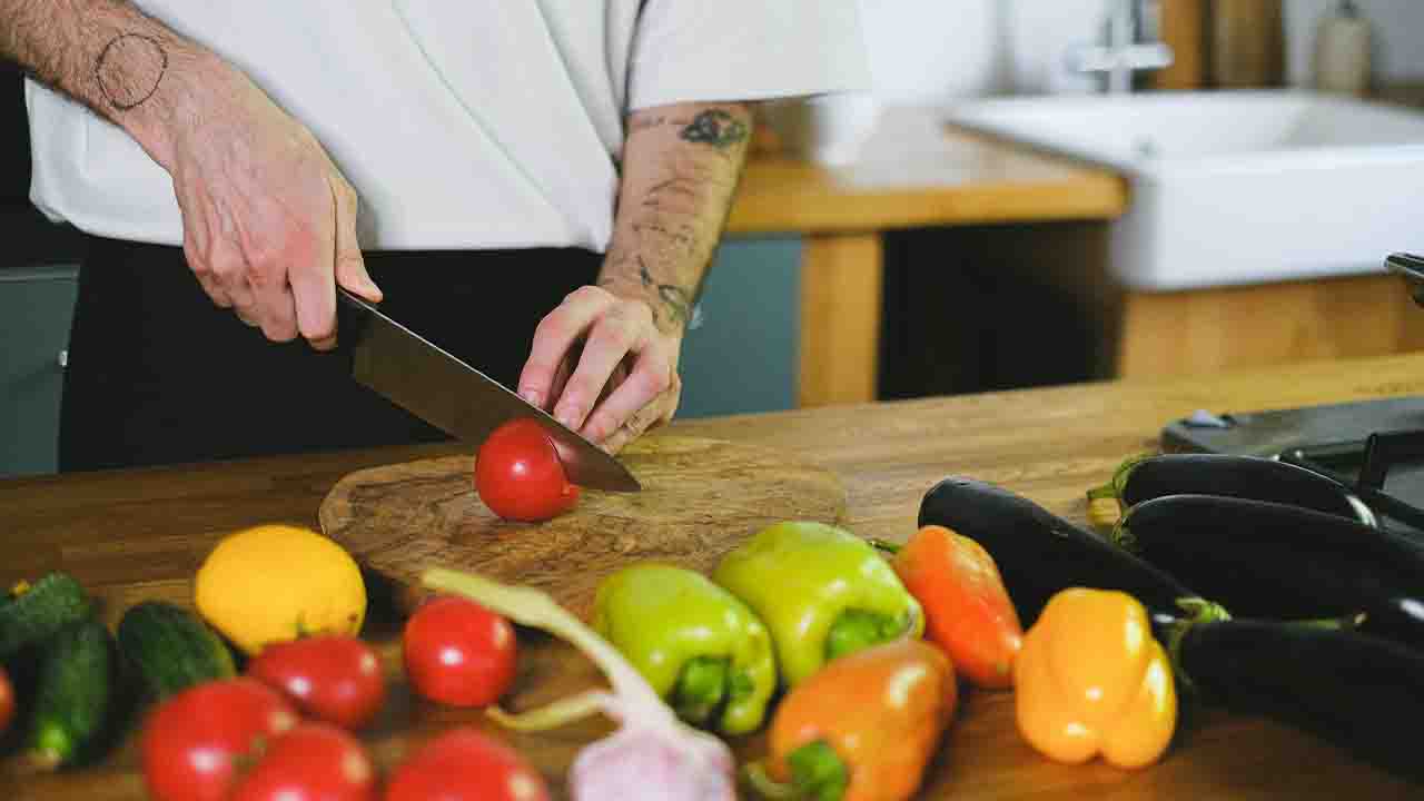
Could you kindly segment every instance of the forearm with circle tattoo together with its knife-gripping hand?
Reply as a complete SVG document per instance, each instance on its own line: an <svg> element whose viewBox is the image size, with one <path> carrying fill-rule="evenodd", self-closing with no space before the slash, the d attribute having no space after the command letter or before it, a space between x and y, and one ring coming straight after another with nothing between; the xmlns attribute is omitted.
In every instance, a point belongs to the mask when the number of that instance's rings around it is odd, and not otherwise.
<svg viewBox="0 0 1424 801"><path fill-rule="evenodd" d="M122 127L172 177L184 252L269 339L336 343L335 284L380 299L356 192L252 81L125 0L0 0L0 57Z"/></svg>

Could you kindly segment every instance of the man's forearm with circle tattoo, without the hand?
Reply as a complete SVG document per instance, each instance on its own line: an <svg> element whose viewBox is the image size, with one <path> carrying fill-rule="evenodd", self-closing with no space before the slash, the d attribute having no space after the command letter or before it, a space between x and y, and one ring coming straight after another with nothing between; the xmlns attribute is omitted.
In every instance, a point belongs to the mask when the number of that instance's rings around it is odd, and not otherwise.
<svg viewBox="0 0 1424 801"><path fill-rule="evenodd" d="M124 0L0 0L0 57L122 127L161 164L218 60Z"/></svg>

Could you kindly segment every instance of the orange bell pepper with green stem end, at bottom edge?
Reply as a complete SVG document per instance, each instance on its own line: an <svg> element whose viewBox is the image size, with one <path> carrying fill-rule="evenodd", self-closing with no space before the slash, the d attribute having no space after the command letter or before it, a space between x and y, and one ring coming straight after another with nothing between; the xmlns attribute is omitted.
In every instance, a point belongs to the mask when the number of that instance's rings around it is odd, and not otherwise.
<svg viewBox="0 0 1424 801"><path fill-rule="evenodd" d="M778 706L770 757L749 765L768 797L899 801L954 718L954 667L940 648L891 640L843 656L797 684Z"/></svg>

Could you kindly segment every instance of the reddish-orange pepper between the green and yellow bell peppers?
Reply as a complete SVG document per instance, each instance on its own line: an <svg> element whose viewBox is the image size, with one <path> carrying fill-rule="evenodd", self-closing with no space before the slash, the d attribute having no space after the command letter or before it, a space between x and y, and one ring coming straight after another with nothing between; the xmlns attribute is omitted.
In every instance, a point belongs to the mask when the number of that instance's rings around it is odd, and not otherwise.
<svg viewBox="0 0 1424 801"><path fill-rule="evenodd" d="M1014 686L1024 629L984 546L944 526L921 526L904 546L876 540L924 609L926 639L944 648L971 684Z"/></svg>

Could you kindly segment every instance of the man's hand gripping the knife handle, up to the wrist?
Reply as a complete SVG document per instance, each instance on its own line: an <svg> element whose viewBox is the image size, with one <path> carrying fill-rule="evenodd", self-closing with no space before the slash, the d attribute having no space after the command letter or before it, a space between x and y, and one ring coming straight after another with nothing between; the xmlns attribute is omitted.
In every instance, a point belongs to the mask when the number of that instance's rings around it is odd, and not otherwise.
<svg viewBox="0 0 1424 801"><path fill-rule="evenodd" d="M275 342L336 345L336 291L380 301L356 241L356 191L303 125L222 67L169 138L184 254L212 302Z"/></svg>

